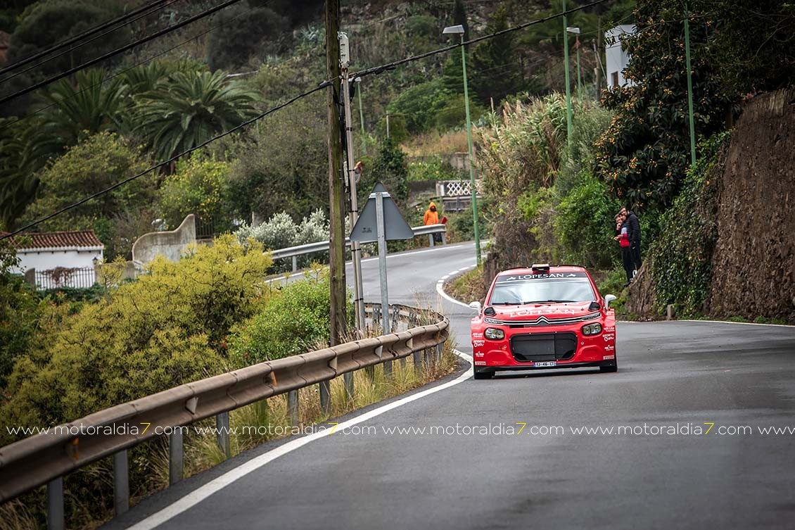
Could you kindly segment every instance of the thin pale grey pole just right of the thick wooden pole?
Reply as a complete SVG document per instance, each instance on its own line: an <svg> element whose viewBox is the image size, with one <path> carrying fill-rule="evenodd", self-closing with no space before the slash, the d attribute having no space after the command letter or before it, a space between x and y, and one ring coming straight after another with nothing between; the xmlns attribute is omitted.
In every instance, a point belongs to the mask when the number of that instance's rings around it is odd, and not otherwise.
<svg viewBox="0 0 795 530"><path fill-rule="evenodd" d="M356 197L356 172L354 170L353 158L353 115L351 113L351 79L349 77L348 66L351 64L350 45L345 33L339 33L340 56L339 65L342 72L343 86L343 108L345 109L345 154L347 166L348 186L351 190L351 228L359 220L359 200ZM362 285L362 251L359 242L351 241L351 259L353 261L354 279L354 308L356 312L356 329L364 331L364 294ZM349 374L346 374L346 376ZM353 373L351 384L353 384Z"/></svg>

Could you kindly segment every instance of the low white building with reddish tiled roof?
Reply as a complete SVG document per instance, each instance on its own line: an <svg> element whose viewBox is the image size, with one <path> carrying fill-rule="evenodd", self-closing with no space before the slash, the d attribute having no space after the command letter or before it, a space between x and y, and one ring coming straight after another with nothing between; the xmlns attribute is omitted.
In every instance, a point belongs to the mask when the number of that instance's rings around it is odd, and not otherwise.
<svg viewBox="0 0 795 530"><path fill-rule="evenodd" d="M33 274L38 289L94 285L95 266L102 262L105 249L91 230L25 233L12 241L19 258L19 267L12 272Z"/></svg>

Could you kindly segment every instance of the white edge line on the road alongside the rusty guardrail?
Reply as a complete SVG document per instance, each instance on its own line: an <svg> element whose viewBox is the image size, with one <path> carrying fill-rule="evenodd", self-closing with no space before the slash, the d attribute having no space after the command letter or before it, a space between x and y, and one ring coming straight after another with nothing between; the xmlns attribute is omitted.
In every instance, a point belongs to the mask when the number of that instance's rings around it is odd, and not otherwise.
<svg viewBox="0 0 795 530"><path fill-rule="evenodd" d="M463 372L460 376L456 377L456 379L452 381L448 381L447 383L440 384L439 386L429 388L428 390L424 390L422 392L417 392L416 394L412 394L411 396L397 399L392 403L388 403L383 407L378 407L372 411L365 412L363 415L356 416L355 418L348 419L343 423L339 423L337 425L337 429L343 430L347 427L351 427L356 425L357 423L366 422L368 419L373 419L376 416L382 415L385 412L391 411L397 407L402 407L403 405L407 405L412 401L417 401L417 399L424 398L425 396L430 396L431 394L435 394L436 392L441 392L448 388L456 386L456 384L463 383L463 381L469 379L472 376L472 357L471 355L467 355L466 353L460 352L458 350L454 350L456 355L459 357L463 357L464 359L469 361L469 369L466 372ZM152 528L157 528L161 524L165 523L166 521L173 519L173 517L178 516L180 513L191 509L193 506L199 504L201 501L204 501L207 497L210 497L213 493L218 492L220 489L223 489L227 485L230 485L232 482L237 481L238 479L245 477L248 473L258 470L262 466L265 466L269 462L273 462L273 460L288 454L294 450L297 450L300 447L307 445L309 442L314 442L317 439L324 438L325 436L331 435L331 429L326 431L320 431L313 433L312 435L307 435L302 438L297 438L290 442L286 442L284 445L278 446L276 449L270 450L267 453L260 454L258 457L252 458L248 462L242 463L240 466L236 467L234 470L229 470L227 473L223 473L220 477L217 477L207 484L200 486L197 489L194 489L191 493L188 493L184 497L180 498L178 501L174 502L171 505L166 506L164 509L161 509L159 512L154 512L152 515L146 517L144 520L139 521L138 523L130 526L128 530L151 530Z"/></svg>

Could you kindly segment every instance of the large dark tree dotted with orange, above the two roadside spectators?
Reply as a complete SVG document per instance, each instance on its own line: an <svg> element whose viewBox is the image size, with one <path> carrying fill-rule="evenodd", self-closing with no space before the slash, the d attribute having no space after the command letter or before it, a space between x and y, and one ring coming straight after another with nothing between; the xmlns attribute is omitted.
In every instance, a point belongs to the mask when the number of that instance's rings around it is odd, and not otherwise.
<svg viewBox="0 0 795 530"><path fill-rule="evenodd" d="M729 99L719 68L707 53L715 25L707 2L690 2L690 44L696 134L724 127ZM596 142L600 176L622 201L638 207L669 205L690 165L684 10L678 0L638 2L638 32L624 39L625 76L634 84L605 92L615 117ZM738 38L733 36L732 38ZM746 38L753 38L747 35Z"/></svg>

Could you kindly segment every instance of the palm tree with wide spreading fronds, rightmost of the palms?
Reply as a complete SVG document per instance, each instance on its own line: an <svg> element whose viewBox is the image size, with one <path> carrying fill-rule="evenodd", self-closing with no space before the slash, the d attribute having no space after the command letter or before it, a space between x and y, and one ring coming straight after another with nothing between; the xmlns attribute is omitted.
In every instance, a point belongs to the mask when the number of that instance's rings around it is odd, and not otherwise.
<svg viewBox="0 0 795 530"><path fill-rule="evenodd" d="M257 95L223 72L194 70L175 72L135 99L135 132L166 160L242 123Z"/></svg>

